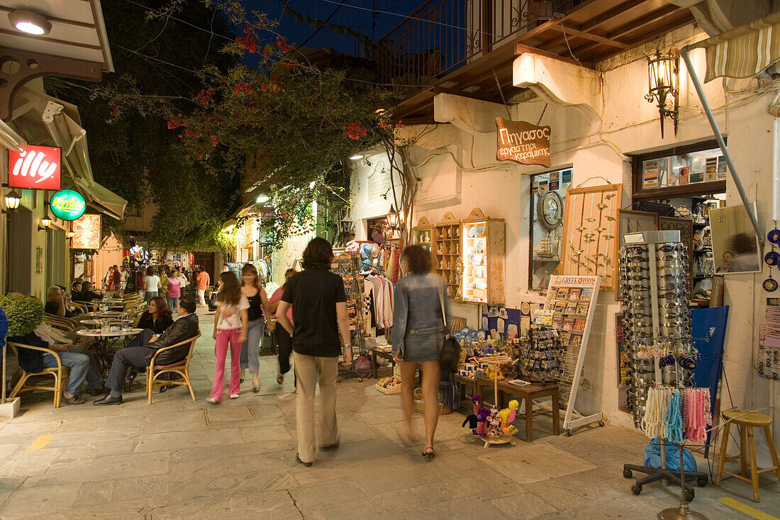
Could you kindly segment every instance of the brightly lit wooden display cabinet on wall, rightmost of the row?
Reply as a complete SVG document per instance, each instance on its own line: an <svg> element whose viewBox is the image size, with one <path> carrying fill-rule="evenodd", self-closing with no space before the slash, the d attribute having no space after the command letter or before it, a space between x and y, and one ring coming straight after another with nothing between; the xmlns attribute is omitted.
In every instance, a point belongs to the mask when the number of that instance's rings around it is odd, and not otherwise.
<svg viewBox="0 0 780 520"><path fill-rule="evenodd" d="M462 227L463 301L505 303L504 219L488 219L480 208L474 208Z"/></svg>

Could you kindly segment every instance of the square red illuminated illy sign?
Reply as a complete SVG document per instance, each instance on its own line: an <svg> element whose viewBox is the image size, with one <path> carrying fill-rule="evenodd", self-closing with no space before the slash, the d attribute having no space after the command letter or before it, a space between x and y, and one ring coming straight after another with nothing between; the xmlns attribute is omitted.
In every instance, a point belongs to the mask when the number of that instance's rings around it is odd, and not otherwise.
<svg viewBox="0 0 780 520"><path fill-rule="evenodd" d="M24 151L9 150L9 187L58 190L61 153L59 148L27 145Z"/></svg>

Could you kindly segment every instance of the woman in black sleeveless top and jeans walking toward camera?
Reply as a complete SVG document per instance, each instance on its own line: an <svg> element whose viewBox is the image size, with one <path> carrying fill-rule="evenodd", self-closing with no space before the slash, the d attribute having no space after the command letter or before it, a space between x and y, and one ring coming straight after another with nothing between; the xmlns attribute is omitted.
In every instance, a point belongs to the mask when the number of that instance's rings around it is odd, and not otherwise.
<svg viewBox="0 0 780 520"><path fill-rule="evenodd" d="M249 324L246 327L246 341L241 344L241 379L248 368L252 372L252 391L260 391L260 340L265 329L265 313L268 308L268 296L260 283L257 268L244 264L241 269L241 293L249 300L246 314Z"/></svg>

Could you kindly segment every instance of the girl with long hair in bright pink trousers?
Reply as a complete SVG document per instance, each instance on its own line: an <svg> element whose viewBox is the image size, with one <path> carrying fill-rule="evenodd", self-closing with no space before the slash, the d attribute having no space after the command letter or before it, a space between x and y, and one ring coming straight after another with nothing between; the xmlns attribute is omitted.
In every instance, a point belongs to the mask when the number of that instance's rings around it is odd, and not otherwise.
<svg viewBox="0 0 780 520"><path fill-rule="evenodd" d="M219 294L217 312L214 315L214 339L217 341L214 352L216 366L211 395L206 401L219 404L222 401L222 388L225 385L225 354L230 347L230 388L231 399L239 397L239 378L241 344L246 341L246 309L249 301L241 294L241 286L236 274L225 271L219 275Z"/></svg>

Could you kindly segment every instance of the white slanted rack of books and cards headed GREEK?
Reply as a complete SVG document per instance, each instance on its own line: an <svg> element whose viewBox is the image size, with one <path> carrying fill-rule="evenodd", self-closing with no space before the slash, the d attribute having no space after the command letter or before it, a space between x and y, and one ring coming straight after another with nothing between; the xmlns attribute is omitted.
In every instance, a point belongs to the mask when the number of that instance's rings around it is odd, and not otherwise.
<svg viewBox="0 0 780 520"><path fill-rule="evenodd" d="M544 310L553 312L552 329L558 331L560 338L561 358L557 360L559 368L556 372L561 403L566 404L566 415L563 418L566 436L570 436L575 428L593 422L604 426L601 412L582 415L574 408L599 287L601 276L550 277Z"/></svg>

